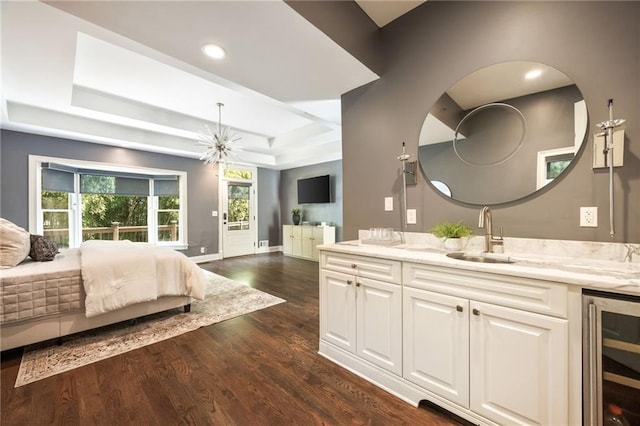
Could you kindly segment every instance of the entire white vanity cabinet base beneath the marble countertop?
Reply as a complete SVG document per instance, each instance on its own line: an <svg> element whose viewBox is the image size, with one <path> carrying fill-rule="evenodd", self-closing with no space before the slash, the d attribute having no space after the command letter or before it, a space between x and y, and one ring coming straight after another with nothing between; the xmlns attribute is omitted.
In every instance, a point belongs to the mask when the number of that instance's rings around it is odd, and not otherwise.
<svg viewBox="0 0 640 426"><path fill-rule="evenodd" d="M570 423L567 318L565 284L320 253L319 353L477 424Z"/></svg>

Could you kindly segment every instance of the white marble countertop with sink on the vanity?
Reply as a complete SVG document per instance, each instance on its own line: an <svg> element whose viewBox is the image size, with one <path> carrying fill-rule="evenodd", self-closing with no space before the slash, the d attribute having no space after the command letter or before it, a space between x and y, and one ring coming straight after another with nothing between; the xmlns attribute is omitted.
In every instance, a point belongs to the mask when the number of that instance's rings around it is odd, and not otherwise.
<svg viewBox="0 0 640 426"><path fill-rule="evenodd" d="M506 243L505 243L506 245ZM578 285L604 291L640 295L640 262L539 255L526 252L482 253L473 247L465 253L509 260L513 263L483 263L448 257L433 244L409 242L395 246L363 244L360 240L318 246L345 254L424 263L464 270L512 275Z"/></svg>

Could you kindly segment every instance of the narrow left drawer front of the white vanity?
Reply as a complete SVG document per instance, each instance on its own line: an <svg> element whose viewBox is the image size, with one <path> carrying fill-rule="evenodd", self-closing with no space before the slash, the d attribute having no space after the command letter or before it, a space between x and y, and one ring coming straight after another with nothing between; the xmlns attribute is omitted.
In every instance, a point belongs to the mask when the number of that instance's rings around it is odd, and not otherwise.
<svg viewBox="0 0 640 426"><path fill-rule="evenodd" d="M402 281L402 263L397 260L323 251L320 256L320 267L395 284L400 284Z"/></svg>

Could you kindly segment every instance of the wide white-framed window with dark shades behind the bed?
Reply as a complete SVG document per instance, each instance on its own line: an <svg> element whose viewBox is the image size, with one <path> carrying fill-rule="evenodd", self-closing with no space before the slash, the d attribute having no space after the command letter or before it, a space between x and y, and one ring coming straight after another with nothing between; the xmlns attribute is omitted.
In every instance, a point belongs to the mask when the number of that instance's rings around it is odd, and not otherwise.
<svg viewBox="0 0 640 426"><path fill-rule="evenodd" d="M33 162L36 233L60 247L87 240L186 245L186 173L56 161Z"/></svg>

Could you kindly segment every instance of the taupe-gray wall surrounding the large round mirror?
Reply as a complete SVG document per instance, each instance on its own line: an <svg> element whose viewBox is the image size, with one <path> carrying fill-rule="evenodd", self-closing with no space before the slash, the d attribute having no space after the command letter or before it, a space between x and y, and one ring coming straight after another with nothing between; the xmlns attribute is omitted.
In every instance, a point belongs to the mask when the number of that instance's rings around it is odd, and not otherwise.
<svg viewBox="0 0 640 426"><path fill-rule="evenodd" d="M313 20L312 16L307 19ZM624 167L615 171L616 235L609 237L608 176L591 167L588 149L551 188L493 208L506 236L640 242L640 2L426 2L382 32L386 72L342 98L344 238L360 228L400 229L401 143L417 158L422 122L454 82L490 64L529 60L564 72L584 95L589 133L608 119L626 118ZM354 53L352 51L352 53ZM496 185L500 185L497 182ZM426 231L438 222L478 220L478 207L445 199L426 183L409 187L409 208ZM597 206L598 228L579 227L579 207ZM481 230L476 232L480 233Z"/></svg>

